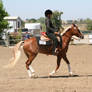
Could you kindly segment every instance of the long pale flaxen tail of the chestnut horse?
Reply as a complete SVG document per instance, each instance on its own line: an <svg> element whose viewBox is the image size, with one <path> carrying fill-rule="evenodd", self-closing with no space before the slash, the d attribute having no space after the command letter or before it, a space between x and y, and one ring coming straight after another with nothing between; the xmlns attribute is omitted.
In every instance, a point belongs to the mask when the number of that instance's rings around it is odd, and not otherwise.
<svg viewBox="0 0 92 92"><path fill-rule="evenodd" d="M13 57L10 59L10 64L4 66L4 68L13 68L16 65L21 56L20 47L22 46L22 43L23 41L20 41L13 47Z"/></svg>

